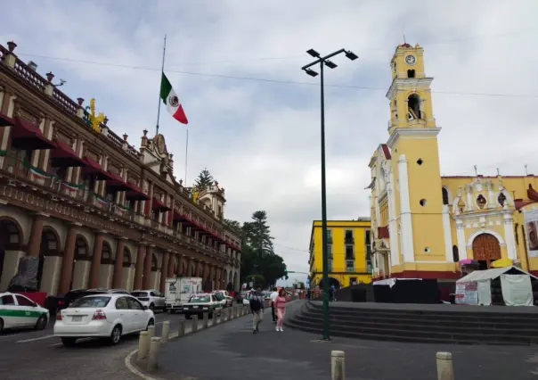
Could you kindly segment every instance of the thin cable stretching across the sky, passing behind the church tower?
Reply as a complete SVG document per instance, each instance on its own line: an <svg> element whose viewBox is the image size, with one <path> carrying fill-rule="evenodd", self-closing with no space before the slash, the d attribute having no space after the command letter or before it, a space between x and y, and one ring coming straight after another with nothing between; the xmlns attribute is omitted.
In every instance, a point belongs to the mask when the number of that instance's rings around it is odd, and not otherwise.
<svg viewBox="0 0 538 380"><path fill-rule="evenodd" d="M45 59L52 59L52 60L65 61L65 62L96 64L96 65L108 66L108 67L118 67L118 68L122 68L122 69L160 71L160 69L151 68L151 67L147 67L147 66L130 66L130 65L118 64L118 63L93 62L93 61L75 60L75 59L71 59L71 58L51 57L51 56L46 56L46 55L35 55L35 54L19 54L19 55L26 55L26 56L29 56L29 57L45 58ZM320 84L317 83L317 82L311 83L311 82L299 82L299 81L295 81L295 80L239 77L239 76L234 76L234 75L212 74L212 73L207 73L207 72L184 71L184 70L167 70L167 72L173 72L173 73L176 73L176 74L192 75L192 76L200 76L200 77L249 80L249 81L266 82L266 83L279 83L279 84L285 84L285 85L314 86L314 87L319 87L320 86ZM360 90L371 90L371 91L384 91L384 92L387 91L386 87L368 87L368 86L353 86L353 85L330 85L330 84L324 84L324 86L325 87L334 87L334 88L352 88L352 89L360 89ZM538 95L526 95L526 94L479 93L479 92L459 92L459 91L443 91L443 90L441 90L441 91L439 91L439 90L431 90L431 92L435 93L435 94L442 94L442 95L471 95L471 96L494 96L494 97L515 97L515 98L538 99Z"/></svg>

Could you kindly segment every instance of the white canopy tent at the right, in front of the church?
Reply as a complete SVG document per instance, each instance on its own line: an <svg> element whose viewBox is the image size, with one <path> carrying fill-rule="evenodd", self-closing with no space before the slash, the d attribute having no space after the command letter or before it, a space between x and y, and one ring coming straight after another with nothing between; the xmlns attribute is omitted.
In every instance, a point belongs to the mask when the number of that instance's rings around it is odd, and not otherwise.
<svg viewBox="0 0 538 380"><path fill-rule="evenodd" d="M510 266L475 270L456 281L456 303L463 305L491 305L492 280L500 278L502 300L507 306L533 306L531 275L525 270Z"/></svg>

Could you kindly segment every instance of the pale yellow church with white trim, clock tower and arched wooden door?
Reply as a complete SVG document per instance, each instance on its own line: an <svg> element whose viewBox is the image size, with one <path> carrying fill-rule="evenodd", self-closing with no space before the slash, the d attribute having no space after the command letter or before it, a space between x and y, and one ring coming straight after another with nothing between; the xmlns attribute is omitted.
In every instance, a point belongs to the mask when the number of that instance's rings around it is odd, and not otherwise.
<svg viewBox="0 0 538 380"><path fill-rule="evenodd" d="M538 179L441 177L423 49L397 46L390 66L388 140L369 164L373 277L453 279L460 260L501 258L536 274Z"/></svg>

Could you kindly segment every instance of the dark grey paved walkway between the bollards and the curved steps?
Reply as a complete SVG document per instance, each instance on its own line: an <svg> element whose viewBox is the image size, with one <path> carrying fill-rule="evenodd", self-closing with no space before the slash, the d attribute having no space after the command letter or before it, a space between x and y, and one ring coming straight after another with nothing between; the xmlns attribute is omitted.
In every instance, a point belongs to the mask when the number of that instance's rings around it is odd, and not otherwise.
<svg viewBox="0 0 538 380"><path fill-rule="evenodd" d="M288 313L305 301L290 302ZM526 380L538 378L534 347L456 346L335 338L285 328L274 331L265 311L260 334L252 334L250 316L167 343L159 357L163 379L330 379L330 351L346 351L347 380L435 380L436 351L451 351L455 380ZM538 372L537 372L538 373Z"/></svg>

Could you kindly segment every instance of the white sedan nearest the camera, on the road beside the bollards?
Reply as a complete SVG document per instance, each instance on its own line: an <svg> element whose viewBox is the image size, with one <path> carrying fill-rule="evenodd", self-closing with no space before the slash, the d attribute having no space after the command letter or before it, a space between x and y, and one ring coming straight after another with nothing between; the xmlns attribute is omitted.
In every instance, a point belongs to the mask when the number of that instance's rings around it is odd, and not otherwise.
<svg viewBox="0 0 538 380"><path fill-rule="evenodd" d="M108 338L117 344L122 335L155 325L153 311L129 294L94 294L79 298L56 315L54 336L64 346L78 338Z"/></svg>

